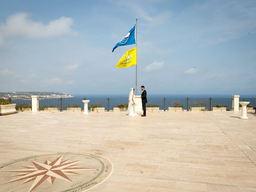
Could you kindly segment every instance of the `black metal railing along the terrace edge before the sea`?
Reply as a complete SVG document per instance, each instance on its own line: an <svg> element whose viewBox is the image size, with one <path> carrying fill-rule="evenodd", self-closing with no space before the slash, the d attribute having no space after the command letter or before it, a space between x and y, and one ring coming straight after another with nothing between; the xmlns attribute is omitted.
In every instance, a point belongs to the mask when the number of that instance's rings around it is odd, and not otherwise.
<svg viewBox="0 0 256 192"><path fill-rule="evenodd" d="M16 104L18 111L32 109L31 98L8 98ZM38 98L40 111L83 111L82 100L90 100L88 109L93 111L112 111L128 106L128 98ZM256 106L256 98L240 98L239 101L249 101L250 106ZM231 110L232 98L148 98L147 108L152 111L177 110ZM248 106L249 107L249 106Z"/></svg>

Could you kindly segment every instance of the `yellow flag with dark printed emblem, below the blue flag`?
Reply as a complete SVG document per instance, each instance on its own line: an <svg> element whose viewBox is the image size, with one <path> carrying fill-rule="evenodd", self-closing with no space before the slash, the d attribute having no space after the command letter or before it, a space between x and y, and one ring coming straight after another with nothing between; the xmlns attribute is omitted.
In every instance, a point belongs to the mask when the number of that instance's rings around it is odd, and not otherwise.
<svg viewBox="0 0 256 192"><path fill-rule="evenodd" d="M126 68L136 65L136 48L128 50L116 64L117 68Z"/></svg>

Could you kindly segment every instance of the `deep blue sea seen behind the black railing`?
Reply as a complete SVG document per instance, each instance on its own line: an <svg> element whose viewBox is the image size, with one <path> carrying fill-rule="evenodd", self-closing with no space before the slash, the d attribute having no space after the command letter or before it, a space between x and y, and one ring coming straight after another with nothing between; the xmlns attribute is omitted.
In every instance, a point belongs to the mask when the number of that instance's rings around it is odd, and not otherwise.
<svg viewBox="0 0 256 192"><path fill-rule="evenodd" d="M140 93L140 92L139 92ZM119 104L128 103L127 94L71 94L78 100L90 100L89 105L96 105L109 108L112 110ZM232 108L232 94L150 94L147 93L148 106L159 106L160 110L164 110L164 103L166 108L168 106L180 105L183 109L190 108L191 106L205 106L210 109L210 102L212 106L226 106L227 110ZM81 99L82 98L82 99ZM109 98L109 100L107 99ZM166 100L164 101L164 98ZM187 102L189 98L189 103ZM210 101L210 98L212 100ZM70 102L74 103L74 100ZM64 101L64 100L63 100ZM240 94L240 101L250 101L252 105L256 105L256 94ZM68 99L67 99L68 102ZM81 101L78 101L79 103Z"/></svg>

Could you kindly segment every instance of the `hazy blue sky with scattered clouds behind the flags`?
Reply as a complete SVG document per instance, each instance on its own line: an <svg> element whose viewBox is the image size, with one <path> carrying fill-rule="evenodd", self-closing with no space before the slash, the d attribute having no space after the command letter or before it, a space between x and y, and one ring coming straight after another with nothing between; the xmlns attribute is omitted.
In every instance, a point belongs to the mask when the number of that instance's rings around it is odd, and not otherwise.
<svg viewBox="0 0 256 192"><path fill-rule="evenodd" d="M255 0L0 0L0 92L256 94Z"/></svg>

